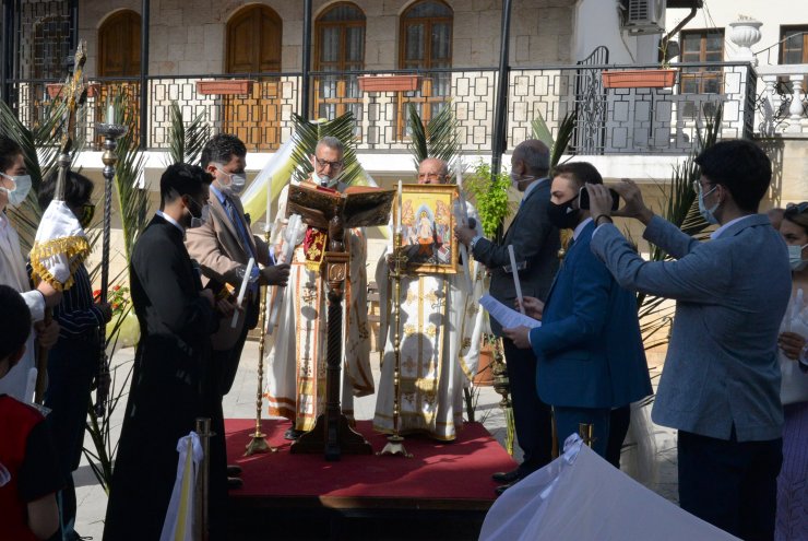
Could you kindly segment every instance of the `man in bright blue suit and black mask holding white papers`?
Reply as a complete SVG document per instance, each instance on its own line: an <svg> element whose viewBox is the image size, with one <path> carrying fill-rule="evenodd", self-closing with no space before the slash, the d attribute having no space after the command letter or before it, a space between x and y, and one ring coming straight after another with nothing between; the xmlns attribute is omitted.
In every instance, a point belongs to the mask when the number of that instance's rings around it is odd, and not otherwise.
<svg viewBox="0 0 808 541"><path fill-rule="evenodd" d="M527 315L542 319L542 327L503 332L535 353L538 397L552 405L559 444L578 434L579 423L591 424L592 448L605 457L611 409L651 395L637 296L590 249L595 225L590 211L580 209L579 190L603 184L601 174L575 162L557 167L552 177L548 215L558 228L573 230L572 240L546 306L525 297Z"/></svg>

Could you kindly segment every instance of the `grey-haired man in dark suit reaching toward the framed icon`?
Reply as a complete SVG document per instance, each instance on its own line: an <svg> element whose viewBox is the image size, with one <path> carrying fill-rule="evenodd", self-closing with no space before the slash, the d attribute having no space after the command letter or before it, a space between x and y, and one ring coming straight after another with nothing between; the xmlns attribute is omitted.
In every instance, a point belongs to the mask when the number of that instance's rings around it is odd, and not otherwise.
<svg viewBox="0 0 808 541"><path fill-rule="evenodd" d="M507 306L513 306L516 299L509 245L513 245L523 295L545 301L558 269L558 228L547 217L547 203L550 200L550 183L547 179L549 161L549 149L537 140L524 141L513 150L511 179L513 186L524 192L524 197L501 244L478 236L470 227L455 227L458 239L468 246L474 259L485 264L491 273L491 296ZM502 336L499 324L494 319L490 322L491 331ZM502 344L508 363L516 438L523 460L513 471L494 474L495 481L504 483L498 489L500 493L548 463L552 448L550 407L536 395L536 360L533 352L520 350L507 337L502 338Z"/></svg>

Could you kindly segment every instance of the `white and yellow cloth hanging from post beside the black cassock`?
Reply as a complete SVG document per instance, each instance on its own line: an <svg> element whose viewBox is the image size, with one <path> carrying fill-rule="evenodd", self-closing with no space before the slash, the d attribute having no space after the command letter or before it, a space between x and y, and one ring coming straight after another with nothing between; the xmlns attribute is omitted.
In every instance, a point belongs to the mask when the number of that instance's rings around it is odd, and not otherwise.
<svg viewBox="0 0 808 541"><path fill-rule="evenodd" d="M171 499L168 502L166 520L159 541L193 541L193 517L195 486L199 464L204 458L202 444L195 432L177 442L177 479L174 482Z"/></svg>

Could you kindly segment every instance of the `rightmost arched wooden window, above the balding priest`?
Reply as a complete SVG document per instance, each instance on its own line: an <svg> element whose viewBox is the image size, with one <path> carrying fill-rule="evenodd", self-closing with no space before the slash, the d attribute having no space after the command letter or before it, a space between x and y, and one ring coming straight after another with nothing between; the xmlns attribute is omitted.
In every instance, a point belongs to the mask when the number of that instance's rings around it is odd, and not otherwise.
<svg viewBox="0 0 808 541"><path fill-rule="evenodd" d="M402 93L399 99L399 138L406 134L407 104L413 103L427 122L445 105L451 94L451 73L428 73L452 67L452 26L454 12L444 2L414 2L401 15L399 67L425 73L420 90Z"/></svg>

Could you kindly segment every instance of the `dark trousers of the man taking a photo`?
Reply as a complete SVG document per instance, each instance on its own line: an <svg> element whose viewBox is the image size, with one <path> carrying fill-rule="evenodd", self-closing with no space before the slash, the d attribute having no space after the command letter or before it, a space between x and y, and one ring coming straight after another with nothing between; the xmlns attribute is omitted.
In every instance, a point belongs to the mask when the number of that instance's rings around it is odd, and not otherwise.
<svg viewBox="0 0 808 541"><path fill-rule="evenodd" d="M747 541L774 537L783 439L738 442L679 431L679 505Z"/></svg>

